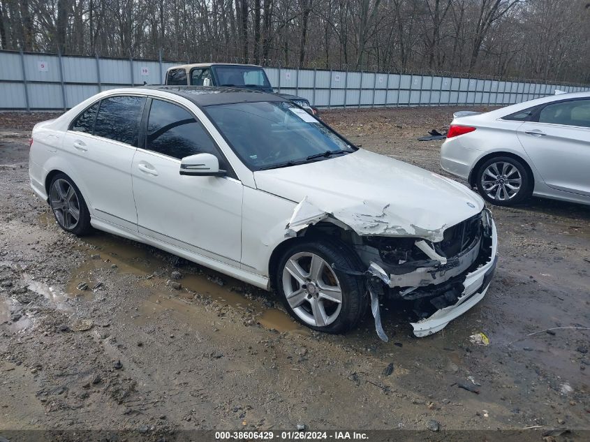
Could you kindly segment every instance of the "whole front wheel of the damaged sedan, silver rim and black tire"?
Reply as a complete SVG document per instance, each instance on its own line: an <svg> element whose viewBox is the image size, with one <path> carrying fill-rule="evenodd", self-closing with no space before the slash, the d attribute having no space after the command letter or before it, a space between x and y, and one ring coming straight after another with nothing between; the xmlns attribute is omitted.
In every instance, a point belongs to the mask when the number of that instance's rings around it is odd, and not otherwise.
<svg viewBox="0 0 590 442"><path fill-rule="evenodd" d="M362 278L334 270L334 263L337 268L361 270L360 260L344 244L314 240L290 246L281 256L275 275L275 286L289 314L319 332L351 330L369 306ZM312 274L312 265L319 270L314 272L318 277Z"/></svg>

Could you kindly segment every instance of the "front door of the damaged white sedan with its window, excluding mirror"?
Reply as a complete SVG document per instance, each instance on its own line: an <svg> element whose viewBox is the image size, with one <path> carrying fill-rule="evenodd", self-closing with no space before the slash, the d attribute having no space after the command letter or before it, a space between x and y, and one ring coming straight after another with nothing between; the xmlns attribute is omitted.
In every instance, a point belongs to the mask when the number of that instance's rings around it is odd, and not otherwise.
<svg viewBox="0 0 590 442"><path fill-rule="evenodd" d="M139 232L239 267L242 254L242 183L226 177L180 175L180 159L207 152L228 163L186 108L160 99L148 103L147 130L133 159ZM145 144L143 144L145 143Z"/></svg>

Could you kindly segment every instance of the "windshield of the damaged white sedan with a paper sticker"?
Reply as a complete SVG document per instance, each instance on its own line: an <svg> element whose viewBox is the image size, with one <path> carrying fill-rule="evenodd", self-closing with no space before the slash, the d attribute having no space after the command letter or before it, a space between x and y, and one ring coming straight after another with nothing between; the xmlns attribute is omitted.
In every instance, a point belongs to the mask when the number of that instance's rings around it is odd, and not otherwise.
<svg viewBox="0 0 590 442"><path fill-rule="evenodd" d="M356 150L290 102L210 105L205 112L250 170L321 161Z"/></svg>

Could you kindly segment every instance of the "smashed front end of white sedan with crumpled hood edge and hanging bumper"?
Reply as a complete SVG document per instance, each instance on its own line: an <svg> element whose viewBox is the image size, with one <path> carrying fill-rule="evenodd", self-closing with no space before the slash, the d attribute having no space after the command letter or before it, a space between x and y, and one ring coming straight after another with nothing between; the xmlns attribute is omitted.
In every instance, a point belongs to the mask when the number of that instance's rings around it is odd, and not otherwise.
<svg viewBox="0 0 590 442"><path fill-rule="evenodd" d="M414 334L428 336L484 297L496 268L496 225L485 206L437 228L399 224L391 210L389 204L380 209L364 201L360 207L327 211L306 197L295 207L285 236L306 235L314 226L316 235L336 235L351 244L367 270L332 268L365 278L378 337L388 341L381 325L384 297L413 302Z"/></svg>

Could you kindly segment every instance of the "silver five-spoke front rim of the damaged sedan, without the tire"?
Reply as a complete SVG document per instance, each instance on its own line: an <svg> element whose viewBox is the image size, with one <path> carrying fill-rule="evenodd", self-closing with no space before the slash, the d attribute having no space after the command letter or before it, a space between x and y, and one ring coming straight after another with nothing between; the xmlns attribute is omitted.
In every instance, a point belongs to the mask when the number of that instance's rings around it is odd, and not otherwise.
<svg viewBox="0 0 590 442"><path fill-rule="evenodd" d="M283 291L295 314L306 324L330 325L342 307L342 291L334 270L320 256L295 253L283 267Z"/></svg>

